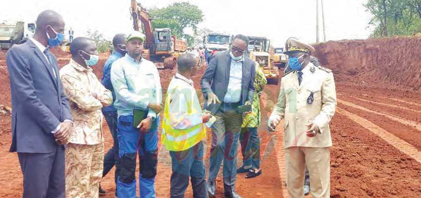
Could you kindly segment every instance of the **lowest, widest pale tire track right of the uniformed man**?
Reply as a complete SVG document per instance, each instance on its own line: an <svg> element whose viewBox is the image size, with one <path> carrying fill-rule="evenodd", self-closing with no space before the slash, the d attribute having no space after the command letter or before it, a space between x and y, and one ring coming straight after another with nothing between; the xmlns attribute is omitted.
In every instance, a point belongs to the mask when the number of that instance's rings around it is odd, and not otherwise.
<svg viewBox="0 0 421 198"><path fill-rule="evenodd" d="M359 125L366 128L371 133L374 133L377 136L379 136L380 138L382 138L383 140L385 140L388 144L392 145L393 147L397 148L401 152L411 156L416 161L421 163L421 152L417 148L414 148L409 143L401 140L400 138L396 137L395 135L393 135L393 134L389 133L388 131L382 129L378 125L376 125L376 124L368 121L367 119L365 119L363 117L360 117L360 116L358 116L354 113L346 111L342 108L337 108L337 112L347 116L348 118L350 118L354 122L356 122Z"/></svg>

